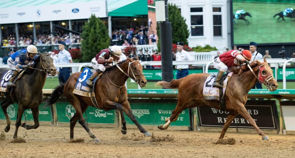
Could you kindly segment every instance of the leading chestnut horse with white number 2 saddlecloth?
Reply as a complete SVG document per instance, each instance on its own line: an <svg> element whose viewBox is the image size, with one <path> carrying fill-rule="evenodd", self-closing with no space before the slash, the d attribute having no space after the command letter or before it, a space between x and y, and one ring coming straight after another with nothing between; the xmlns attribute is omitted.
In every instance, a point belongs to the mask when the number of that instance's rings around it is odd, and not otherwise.
<svg viewBox="0 0 295 158"><path fill-rule="evenodd" d="M267 88L270 91L275 91L277 89L277 82L273 78L273 71L269 65L267 65L266 59L264 59L264 62L262 63L254 61L250 66L255 75L249 70L250 68L242 66L243 69L235 69L235 72L239 72L239 74L234 73L227 84L225 104L226 110L230 113L227 116L226 123L222 128L219 139L223 139L231 121L238 114L241 114L242 117L244 117L256 129L258 134L262 136L262 140L269 139L268 136L258 128L244 105L247 101L248 92L258 80L257 76L259 76L259 81L267 85ZM238 77L238 75L240 76ZM164 88L179 89L176 108L172 111L170 118L165 120L166 124L158 126L159 129L167 129L171 122L176 121L179 114L187 108L209 105L212 108L221 109L218 101L204 99L203 86L208 76L210 76L208 73L191 74L178 80L172 80L171 82L160 81L157 83L157 85L161 85Z"/></svg>

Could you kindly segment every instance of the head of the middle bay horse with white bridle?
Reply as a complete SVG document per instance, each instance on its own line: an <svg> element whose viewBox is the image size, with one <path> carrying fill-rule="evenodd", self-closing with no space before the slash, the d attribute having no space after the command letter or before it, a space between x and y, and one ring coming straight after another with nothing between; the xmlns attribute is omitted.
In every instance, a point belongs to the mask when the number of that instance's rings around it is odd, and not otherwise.
<svg viewBox="0 0 295 158"><path fill-rule="evenodd" d="M145 87L145 85L147 84L147 79L143 74L143 67L140 64L138 57L136 56L128 60L130 62L129 65L132 73L130 74L128 69L129 76L134 77L135 81L139 84L140 87Z"/></svg>

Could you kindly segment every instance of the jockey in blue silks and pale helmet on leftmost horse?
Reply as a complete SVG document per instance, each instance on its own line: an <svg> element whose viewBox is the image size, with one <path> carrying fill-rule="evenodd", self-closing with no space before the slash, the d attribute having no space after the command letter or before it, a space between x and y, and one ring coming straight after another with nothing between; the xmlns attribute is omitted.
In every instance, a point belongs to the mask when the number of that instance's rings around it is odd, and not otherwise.
<svg viewBox="0 0 295 158"><path fill-rule="evenodd" d="M8 58L7 64L14 71L12 77L7 82L7 86L15 86L12 82L18 75L18 72L24 68L29 68L31 63L40 59L40 56L37 55L37 53L37 47L35 45L29 45L26 49L16 51Z"/></svg>

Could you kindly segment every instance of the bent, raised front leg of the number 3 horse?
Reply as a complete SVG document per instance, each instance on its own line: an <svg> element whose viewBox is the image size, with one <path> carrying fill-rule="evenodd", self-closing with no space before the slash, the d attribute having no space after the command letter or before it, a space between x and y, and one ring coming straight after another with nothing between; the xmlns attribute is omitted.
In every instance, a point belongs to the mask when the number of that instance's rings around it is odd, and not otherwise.
<svg viewBox="0 0 295 158"><path fill-rule="evenodd" d="M126 120L125 120L125 117L124 117L124 113L123 113L123 106L121 104L118 104L118 103L115 103L113 101L106 101L104 103L105 105L105 111L108 111L108 110L112 110L112 109L118 109L120 111L120 114L121 114L121 123L122 123L122 129L121 129L121 133L122 134L126 134L127 133L127 128L126 128Z"/></svg>

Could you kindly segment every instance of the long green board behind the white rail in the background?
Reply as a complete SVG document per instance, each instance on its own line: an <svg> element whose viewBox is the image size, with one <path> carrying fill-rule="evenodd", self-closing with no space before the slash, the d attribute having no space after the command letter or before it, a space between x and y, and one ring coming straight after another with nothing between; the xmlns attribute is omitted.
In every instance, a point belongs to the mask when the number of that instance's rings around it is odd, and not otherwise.
<svg viewBox="0 0 295 158"><path fill-rule="evenodd" d="M275 77L275 69L273 69L273 76ZM144 76L148 81L161 81L162 80L162 70L161 69L144 69ZM217 75L217 69L208 69L208 73L211 75ZM177 69L173 69L174 79L176 79ZM203 73L202 69L189 69L189 74L192 73ZM286 79L295 80L295 68L286 68ZM283 68L277 69L277 80L283 80Z"/></svg>

